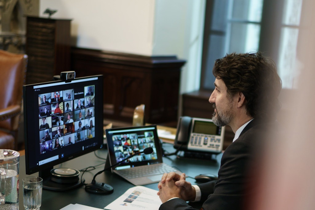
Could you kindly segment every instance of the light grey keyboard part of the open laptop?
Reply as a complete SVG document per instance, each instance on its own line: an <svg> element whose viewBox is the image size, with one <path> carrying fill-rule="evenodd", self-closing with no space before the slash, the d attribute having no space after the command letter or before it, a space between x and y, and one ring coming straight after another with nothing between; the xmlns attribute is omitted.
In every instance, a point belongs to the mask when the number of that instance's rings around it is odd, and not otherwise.
<svg viewBox="0 0 315 210"><path fill-rule="evenodd" d="M153 164L153 165L146 165L146 166L137 166L134 168L128 168L126 170L122 169L119 172L122 176L127 177L128 179L131 178L139 178L139 177L146 177L151 175L158 175L163 173L169 173L177 171L175 168L167 165L167 164ZM161 176L162 178L162 176Z"/></svg>

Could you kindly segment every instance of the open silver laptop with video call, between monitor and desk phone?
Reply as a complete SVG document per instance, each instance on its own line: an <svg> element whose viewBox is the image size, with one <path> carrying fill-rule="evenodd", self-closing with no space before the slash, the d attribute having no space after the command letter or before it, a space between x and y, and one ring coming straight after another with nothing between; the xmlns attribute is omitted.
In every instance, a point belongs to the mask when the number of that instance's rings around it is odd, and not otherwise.
<svg viewBox="0 0 315 210"><path fill-rule="evenodd" d="M153 149L152 154L141 153L112 167L113 173L134 185L157 183L163 173L181 174L176 168L163 163L156 125L106 129L106 139L108 149L106 165L110 166L148 147Z"/></svg>

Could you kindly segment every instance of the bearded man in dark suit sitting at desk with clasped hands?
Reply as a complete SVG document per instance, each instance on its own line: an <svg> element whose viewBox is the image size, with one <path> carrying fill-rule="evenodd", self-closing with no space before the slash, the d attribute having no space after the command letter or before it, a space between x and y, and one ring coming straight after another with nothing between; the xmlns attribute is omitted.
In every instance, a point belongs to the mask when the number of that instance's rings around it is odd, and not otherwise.
<svg viewBox="0 0 315 210"><path fill-rule="evenodd" d="M201 201L205 210L245 209L255 192L251 175L266 133L277 130L281 79L274 62L261 53L226 55L215 61L213 74L212 120L232 128L233 143L222 155L217 181L192 185L185 174L165 173L158 184L160 210L192 209L186 201Z"/></svg>

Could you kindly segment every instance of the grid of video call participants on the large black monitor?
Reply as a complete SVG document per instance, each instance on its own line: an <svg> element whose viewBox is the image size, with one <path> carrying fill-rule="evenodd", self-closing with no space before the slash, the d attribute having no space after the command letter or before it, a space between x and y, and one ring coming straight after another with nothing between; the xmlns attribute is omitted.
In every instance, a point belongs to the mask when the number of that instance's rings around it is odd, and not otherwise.
<svg viewBox="0 0 315 210"><path fill-rule="evenodd" d="M38 95L40 153L95 137L95 86Z"/></svg>

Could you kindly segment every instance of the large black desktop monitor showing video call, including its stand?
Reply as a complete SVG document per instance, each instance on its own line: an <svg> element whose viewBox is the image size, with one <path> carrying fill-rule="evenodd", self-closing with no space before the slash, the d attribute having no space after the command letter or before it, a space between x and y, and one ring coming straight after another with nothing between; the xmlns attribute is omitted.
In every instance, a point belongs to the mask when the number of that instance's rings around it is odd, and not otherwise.
<svg viewBox="0 0 315 210"><path fill-rule="evenodd" d="M103 146L103 75L23 86L26 174L43 188L80 185L77 169L54 166Z"/></svg>

